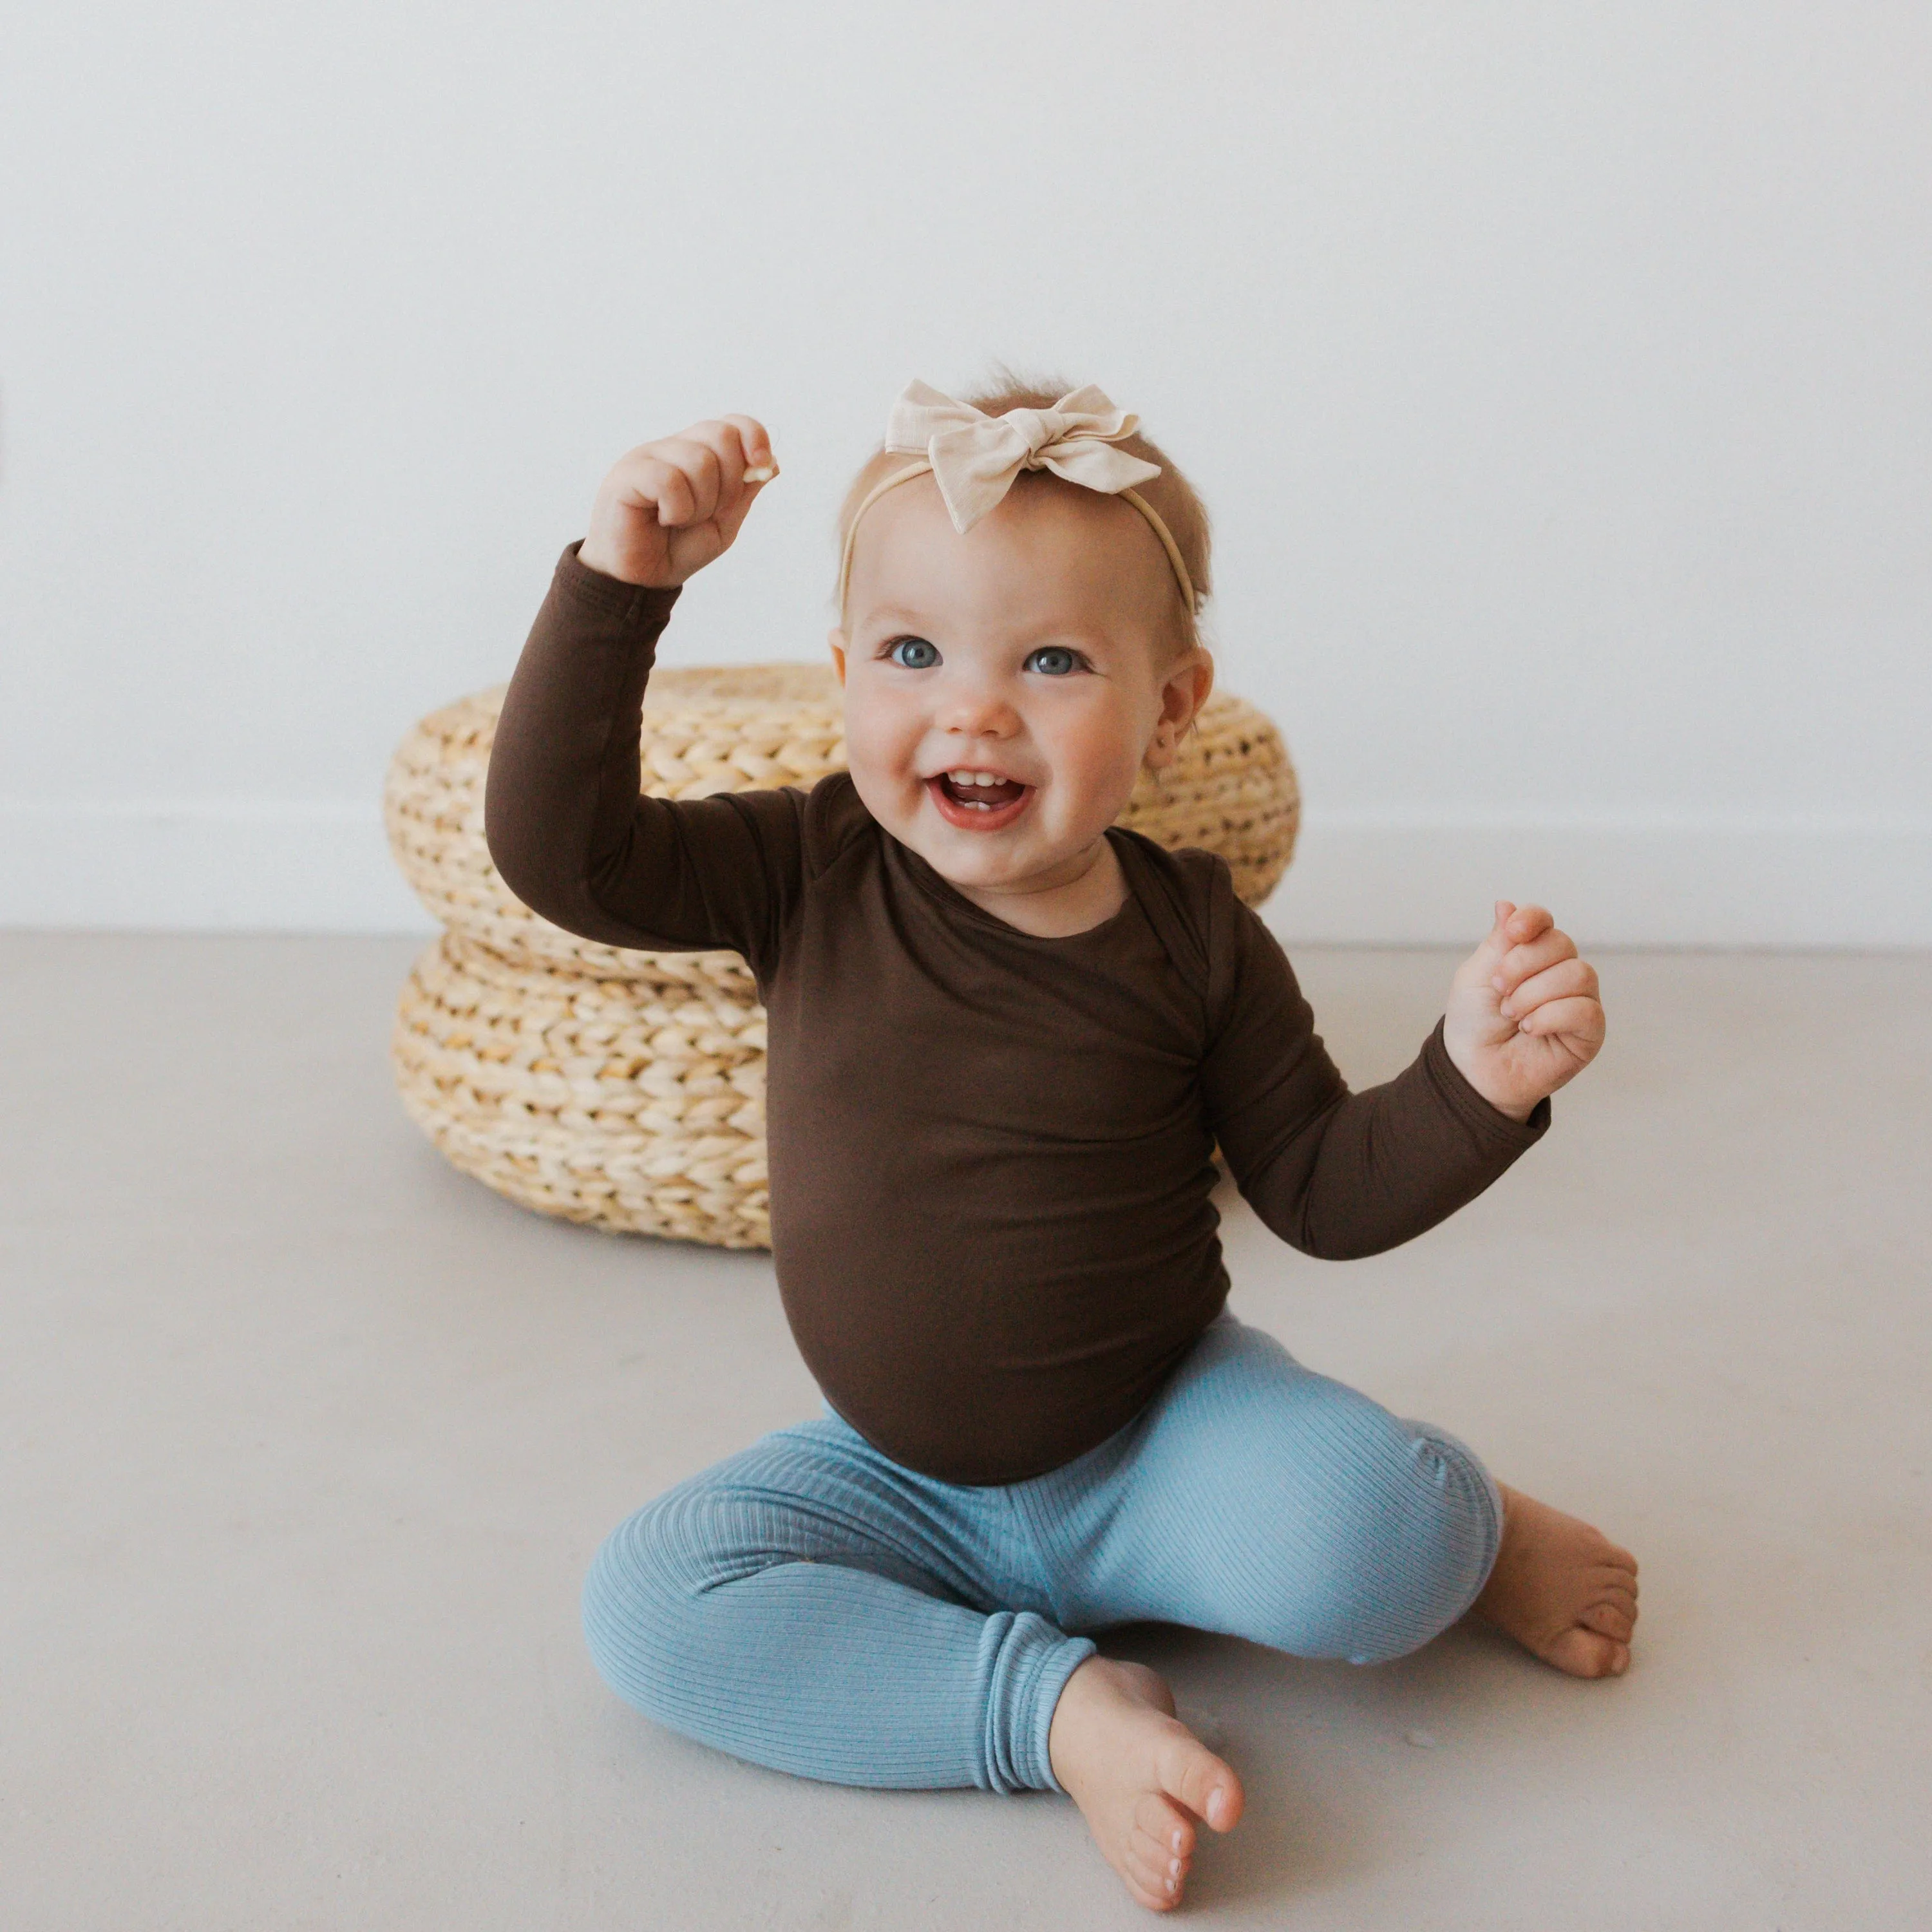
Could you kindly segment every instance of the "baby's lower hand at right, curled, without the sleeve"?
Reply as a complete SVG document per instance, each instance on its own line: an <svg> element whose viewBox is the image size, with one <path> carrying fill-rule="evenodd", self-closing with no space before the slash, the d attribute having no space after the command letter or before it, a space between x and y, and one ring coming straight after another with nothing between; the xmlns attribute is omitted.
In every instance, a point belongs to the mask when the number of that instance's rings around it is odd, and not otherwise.
<svg viewBox="0 0 1932 1932"><path fill-rule="evenodd" d="M1542 906L1495 902L1490 937L1457 968L1443 1045L1463 1078L1513 1121L1596 1059L1596 968Z"/></svg>

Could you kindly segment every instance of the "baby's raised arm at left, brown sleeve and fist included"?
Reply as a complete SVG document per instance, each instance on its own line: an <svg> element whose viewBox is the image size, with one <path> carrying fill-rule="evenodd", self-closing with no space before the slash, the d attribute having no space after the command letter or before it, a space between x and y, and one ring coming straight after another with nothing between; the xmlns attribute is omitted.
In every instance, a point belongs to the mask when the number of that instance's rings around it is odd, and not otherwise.
<svg viewBox="0 0 1932 1932"><path fill-rule="evenodd" d="M647 442L605 477L504 697L485 831L504 883L611 945L730 947L757 962L796 877L798 796L639 798L638 732L678 585L736 537L769 471L750 417Z"/></svg>

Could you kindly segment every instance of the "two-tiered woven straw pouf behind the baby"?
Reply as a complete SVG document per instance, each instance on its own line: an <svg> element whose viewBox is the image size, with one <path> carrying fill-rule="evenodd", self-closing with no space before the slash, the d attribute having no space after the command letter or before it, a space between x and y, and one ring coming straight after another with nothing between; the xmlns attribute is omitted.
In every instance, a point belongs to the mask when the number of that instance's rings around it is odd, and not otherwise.
<svg viewBox="0 0 1932 1932"><path fill-rule="evenodd" d="M390 761L390 850L444 925L402 989L390 1057L410 1117L466 1175L539 1213L771 1246L765 1009L736 952L634 952L518 902L483 842L502 686L431 711ZM844 769L838 684L811 665L661 668L643 786L705 798ZM1215 694L1179 761L1121 823L1206 846L1258 906L1294 850L1300 798L1275 726Z"/></svg>

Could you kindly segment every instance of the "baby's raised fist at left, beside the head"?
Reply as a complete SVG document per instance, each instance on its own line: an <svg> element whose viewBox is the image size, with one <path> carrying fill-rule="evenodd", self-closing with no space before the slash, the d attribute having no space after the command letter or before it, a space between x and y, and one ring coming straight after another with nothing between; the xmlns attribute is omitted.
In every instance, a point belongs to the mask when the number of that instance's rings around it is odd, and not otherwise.
<svg viewBox="0 0 1932 1932"><path fill-rule="evenodd" d="M777 473L765 425L750 415L639 442L603 479L578 558L626 583L682 583L730 549Z"/></svg>

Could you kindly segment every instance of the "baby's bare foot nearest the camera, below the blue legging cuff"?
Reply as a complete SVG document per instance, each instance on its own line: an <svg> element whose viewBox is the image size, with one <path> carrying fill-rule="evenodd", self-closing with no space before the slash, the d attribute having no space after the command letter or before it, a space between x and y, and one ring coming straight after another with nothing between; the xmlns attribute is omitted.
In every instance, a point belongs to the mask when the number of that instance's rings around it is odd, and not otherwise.
<svg viewBox="0 0 1932 1932"><path fill-rule="evenodd" d="M1175 1716L1173 1692L1144 1663L1088 1658L1053 1708L1047 1754L1107 1862L1150 1911L1180 1903L1194 1822L1231 1832L1240 1818L1240 1779Z"/></svg>

